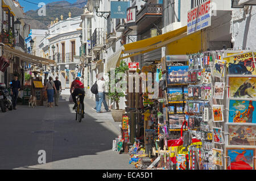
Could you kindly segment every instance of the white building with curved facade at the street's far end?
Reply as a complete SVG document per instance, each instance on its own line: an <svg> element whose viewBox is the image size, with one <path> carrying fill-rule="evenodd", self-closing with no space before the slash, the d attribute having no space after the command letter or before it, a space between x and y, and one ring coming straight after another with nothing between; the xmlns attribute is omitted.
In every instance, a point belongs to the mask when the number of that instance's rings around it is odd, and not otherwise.
<svg viewBox="0 0 256 181"><path fill-rule="evenodd" d="M39 47L42 48L44 57L55 60L55 65L47 68L48 75L59 77L61 87L69 89L72 81L81 73L81 16L63 20L58 18L48 26L48 35L42 39Z"/></svg>

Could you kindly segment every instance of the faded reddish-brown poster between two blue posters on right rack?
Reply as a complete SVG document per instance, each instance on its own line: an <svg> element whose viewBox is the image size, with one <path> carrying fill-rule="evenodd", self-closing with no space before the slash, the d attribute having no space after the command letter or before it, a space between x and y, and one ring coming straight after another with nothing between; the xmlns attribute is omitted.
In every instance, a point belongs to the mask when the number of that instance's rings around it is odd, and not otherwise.
<svg viewBox="0 0 256 181"><path fill-rule="evenodd" d="M229 145L255 145L256 127L228 125Z"/></svg>

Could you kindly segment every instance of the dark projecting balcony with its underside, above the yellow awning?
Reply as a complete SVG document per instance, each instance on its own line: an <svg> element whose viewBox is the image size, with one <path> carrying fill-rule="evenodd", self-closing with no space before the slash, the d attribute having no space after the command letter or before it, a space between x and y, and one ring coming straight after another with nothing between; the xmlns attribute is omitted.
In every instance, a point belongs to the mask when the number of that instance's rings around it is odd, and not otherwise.
<svg viewBox="0 0 256 181"><path fill-rule="evenodd" d="M152 23L156 22L163 15L162 4L148 4L146 3L142 9L137 13L136 25L137 31L140 33L146 30Z"/></svg>

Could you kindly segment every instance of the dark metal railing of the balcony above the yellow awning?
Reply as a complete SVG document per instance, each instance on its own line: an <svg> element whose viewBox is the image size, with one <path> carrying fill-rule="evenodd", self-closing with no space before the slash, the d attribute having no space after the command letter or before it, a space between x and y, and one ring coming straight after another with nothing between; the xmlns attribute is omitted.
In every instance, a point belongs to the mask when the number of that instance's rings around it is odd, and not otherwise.
<svg viewBox="0 0 256 181"><path fill-rule="evenodd" d="M145 14L163 14L162 4L145 4L137 14L137 19L140 19Z"/></svg>

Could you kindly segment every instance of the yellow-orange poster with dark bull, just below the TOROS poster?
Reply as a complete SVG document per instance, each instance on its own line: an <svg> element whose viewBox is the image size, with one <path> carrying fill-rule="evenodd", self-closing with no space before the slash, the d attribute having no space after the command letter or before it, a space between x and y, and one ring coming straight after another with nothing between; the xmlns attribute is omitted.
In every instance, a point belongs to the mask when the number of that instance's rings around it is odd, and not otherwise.
<svg viewBox="0 0 256 181"><path fill-rule="evenodd" d="M256 99L256 77L229 77L229 98Z"/></svg>

